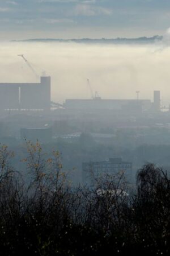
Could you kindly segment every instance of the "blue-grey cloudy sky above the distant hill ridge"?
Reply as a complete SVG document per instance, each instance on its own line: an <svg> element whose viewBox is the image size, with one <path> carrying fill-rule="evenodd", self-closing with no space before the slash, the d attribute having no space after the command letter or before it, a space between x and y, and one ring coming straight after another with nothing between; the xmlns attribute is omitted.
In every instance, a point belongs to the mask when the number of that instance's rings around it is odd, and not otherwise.
<svg viewBox="0 0 170 256"><path fill-rule="evenodd" d="M163 34L169 0L0 0L0 39Z"/></svg>

